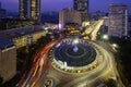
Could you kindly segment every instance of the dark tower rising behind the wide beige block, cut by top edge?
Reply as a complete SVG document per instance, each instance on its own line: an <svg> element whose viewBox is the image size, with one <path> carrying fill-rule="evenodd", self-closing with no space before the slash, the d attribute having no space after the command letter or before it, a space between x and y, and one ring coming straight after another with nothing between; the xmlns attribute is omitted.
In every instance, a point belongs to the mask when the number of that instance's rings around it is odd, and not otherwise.
<svg viewBox="0 0 131 87"><path fill-rule="evenodd" d="M88 0L74 0L73 8L81 12L82 22L88 21Z"/></svg>

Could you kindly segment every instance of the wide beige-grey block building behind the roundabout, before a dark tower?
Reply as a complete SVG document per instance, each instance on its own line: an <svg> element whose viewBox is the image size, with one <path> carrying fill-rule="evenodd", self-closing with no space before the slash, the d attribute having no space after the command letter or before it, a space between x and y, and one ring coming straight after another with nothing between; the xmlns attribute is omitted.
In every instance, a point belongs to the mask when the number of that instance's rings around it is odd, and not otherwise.
<svg viewBox="0 0 131 87"><path fill-rule="evenodd" d="M64 28L66 25L69 23L75 23L78 25L81 25L81 13L73 9L63 9L62 11L60 11L59 24L61 25L61 28Z"/></svg>

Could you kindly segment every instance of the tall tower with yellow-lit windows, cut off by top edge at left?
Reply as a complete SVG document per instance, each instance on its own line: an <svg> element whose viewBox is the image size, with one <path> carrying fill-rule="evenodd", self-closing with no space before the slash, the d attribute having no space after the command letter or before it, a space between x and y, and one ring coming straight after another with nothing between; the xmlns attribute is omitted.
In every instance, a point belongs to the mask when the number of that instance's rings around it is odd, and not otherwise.
<svg viewBox="0 0 131 87"><path fill-rule="evenodd" d="M40 0L20 0L20 18L39 20Z"/></svg>

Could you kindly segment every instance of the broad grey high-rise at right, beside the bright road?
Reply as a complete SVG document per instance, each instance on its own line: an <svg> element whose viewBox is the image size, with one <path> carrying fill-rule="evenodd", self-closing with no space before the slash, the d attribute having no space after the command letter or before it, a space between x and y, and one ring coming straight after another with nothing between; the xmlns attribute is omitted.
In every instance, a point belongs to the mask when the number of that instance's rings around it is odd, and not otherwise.
<svg viewBox="0 0 131 87"><path fill-rule="evenodd" d="M109 36L128 35L128 5L110 4L109 5Z"/></svg>

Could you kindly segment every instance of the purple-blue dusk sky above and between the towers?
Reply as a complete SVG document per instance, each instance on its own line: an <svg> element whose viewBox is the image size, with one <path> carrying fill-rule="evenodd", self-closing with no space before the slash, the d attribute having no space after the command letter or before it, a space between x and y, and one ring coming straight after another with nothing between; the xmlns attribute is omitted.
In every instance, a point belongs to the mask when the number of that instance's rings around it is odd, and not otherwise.
<svg viewBox="0 0 131 87"><path fill-rule="evenodd" d="M2 8L10 12L19 11L19 0L0 0ZM131 9L131 0L90 0L90 12L97 10L107 12L109 3L126 3ZM41 11L60 11L63 8L72 8L73 0L41 0Z"/></svg>

